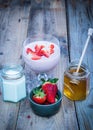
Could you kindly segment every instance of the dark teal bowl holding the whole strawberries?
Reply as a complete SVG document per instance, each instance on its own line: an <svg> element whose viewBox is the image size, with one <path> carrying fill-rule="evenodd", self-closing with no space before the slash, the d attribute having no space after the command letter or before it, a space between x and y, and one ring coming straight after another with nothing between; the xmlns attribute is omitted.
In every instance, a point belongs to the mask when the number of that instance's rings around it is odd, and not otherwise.
<svg viewBox="0 0 93 130"><path fill-rule="evenodd" d="M30 92L29 100L30 100L31 108L34 111L34 113L39 116L44 116L44 117L49 117L49 116L56 114L60 109L60 105L61 105L61 101L62 101L62 94L59 90L58 90L57 95L58 95L57 102L55 102L53 104L48 104L48 105L44 105L44 104L41 105L41 104L35 103L32 100L32 96L33 96L33 90L32 90Z"/></svg>

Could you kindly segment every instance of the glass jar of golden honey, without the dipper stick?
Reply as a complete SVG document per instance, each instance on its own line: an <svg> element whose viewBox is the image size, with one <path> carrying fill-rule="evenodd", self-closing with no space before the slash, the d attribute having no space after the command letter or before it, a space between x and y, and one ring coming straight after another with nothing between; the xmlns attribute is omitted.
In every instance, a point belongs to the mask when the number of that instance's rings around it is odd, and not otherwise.
<svg viewBox="0 0 93 130"><path fill-rule="evenodd" d="M77 61L72 62L64 72L63 93L71 100L84 100L89 94L90 72L83 63L79 72L76 72L77 66Z"/></svg>

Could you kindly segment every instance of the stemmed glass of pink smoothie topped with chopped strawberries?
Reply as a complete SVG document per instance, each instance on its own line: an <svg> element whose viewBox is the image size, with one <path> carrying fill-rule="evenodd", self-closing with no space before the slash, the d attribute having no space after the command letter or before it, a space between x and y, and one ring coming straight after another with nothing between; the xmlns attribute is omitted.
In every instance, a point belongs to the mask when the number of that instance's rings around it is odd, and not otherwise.
<svg viewBox="0 0 93 130"><path fill-rule="evenodd" d="M56 37L43 34L28 37L23 43L23 59L39 76L52 70L59 62L60 47Z"/></svg>

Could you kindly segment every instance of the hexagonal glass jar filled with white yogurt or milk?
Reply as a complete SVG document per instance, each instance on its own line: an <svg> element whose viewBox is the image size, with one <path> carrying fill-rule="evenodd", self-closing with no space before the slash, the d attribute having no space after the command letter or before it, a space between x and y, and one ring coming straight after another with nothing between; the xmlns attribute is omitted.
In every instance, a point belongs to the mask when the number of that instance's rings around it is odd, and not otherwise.
<svg viewBox="0 0 93 130"><path fill-rule="evenodd" d="M1 79L4 101L18 102L26 97L25 75L22 66L4 66Z"/></svg>

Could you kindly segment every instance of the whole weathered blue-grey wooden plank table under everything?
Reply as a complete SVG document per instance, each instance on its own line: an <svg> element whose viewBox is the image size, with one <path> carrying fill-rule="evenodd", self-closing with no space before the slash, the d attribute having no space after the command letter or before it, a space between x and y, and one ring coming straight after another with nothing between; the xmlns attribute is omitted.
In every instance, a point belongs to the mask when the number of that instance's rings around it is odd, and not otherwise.
<svg viewBox="0 0 93 130"><path fill-rule="evenodd" d="M22 60L22 43L36 33L55 35L60 41L60 63L53 71L58 87L63 89L63 74L68 63L80 58L88 28L93 27L93 2L90 0L31 0L22 6L12 0L0 8L0 68ZM31 110L28 97L19 103L4 102L0 92L0 130L93 130L93 36L84 62L90 69L90 94L84 101L73 102L63 96L60 111L40 117ZM32 88L33 73L27 66L27 88Z"/></svg>

